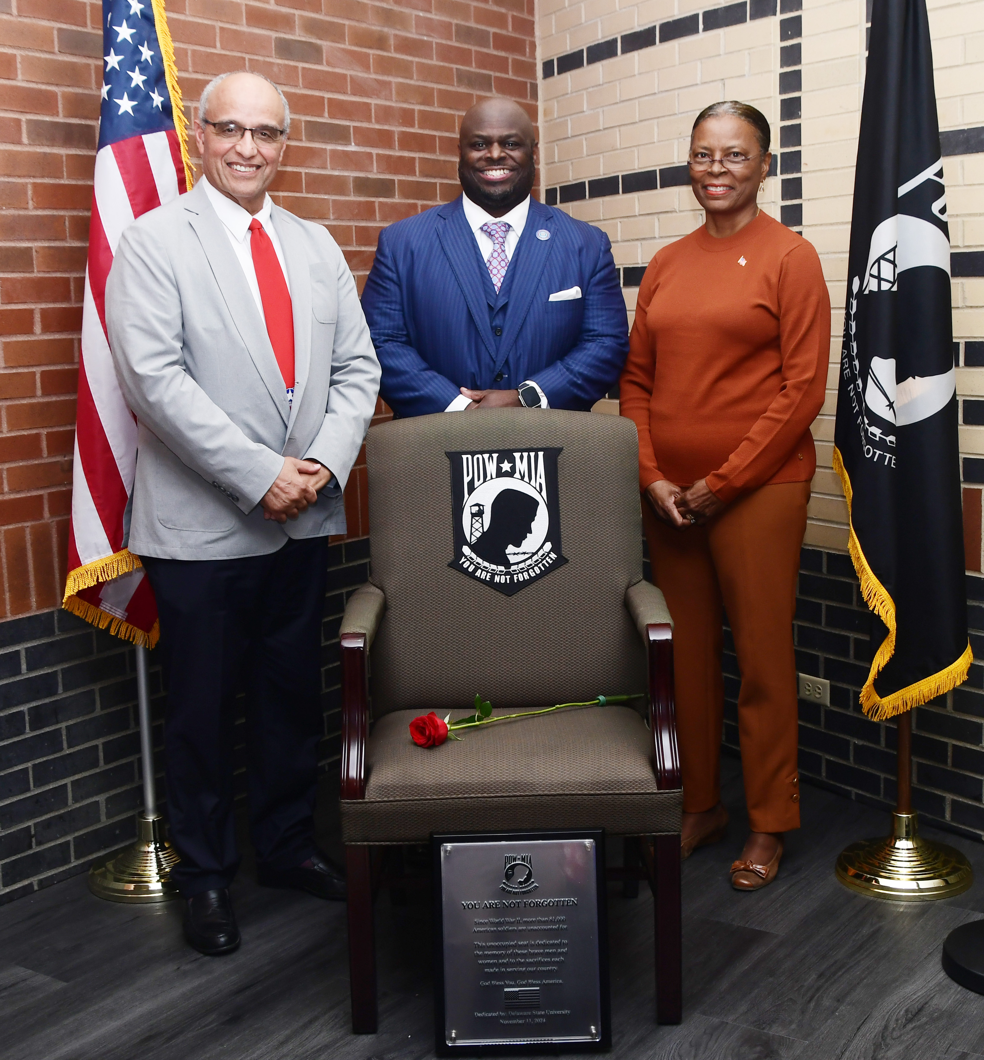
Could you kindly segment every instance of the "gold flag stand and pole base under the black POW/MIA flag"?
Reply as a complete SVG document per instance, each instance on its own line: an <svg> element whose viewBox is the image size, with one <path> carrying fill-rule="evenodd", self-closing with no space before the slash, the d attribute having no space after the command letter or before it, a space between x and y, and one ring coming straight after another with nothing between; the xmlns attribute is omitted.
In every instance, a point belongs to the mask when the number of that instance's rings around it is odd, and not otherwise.
<svg viewBox="0 0 984 1060"><path fill-rule="evenodd" d="M892 831L883 840L852 843L837 859L837 879L869 898L929 902L963 894L973 883L970 863L953 847L919 835L912 810L912 711L898 716L898 796Z"/></svg>

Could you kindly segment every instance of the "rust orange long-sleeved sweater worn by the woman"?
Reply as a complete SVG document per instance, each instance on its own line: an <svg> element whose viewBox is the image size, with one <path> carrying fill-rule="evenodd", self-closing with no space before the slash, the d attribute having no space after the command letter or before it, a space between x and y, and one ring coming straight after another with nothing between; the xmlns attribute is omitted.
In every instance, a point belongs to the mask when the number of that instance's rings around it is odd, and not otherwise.
<svg viewBox="0 0 984 1060"><path fill-rule="evenodd" d="M812 245L759 213L736 235L701 226L649 263L622 414L639 428L639 484L705 478L726 504L812 478L830 299Z"/></svg>

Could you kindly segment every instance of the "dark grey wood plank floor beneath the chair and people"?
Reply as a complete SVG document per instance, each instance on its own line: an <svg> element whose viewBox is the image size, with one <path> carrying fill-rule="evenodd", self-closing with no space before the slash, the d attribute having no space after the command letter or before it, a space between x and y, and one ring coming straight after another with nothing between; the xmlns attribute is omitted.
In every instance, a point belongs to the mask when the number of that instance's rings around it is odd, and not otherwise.
<svg viewBox="0 0 984 1060"><path fill-rule="evenodd" d="M984 912L984 882L948 902L904 905L836 882L848 842L888 815L813 788L779 880L743 895L727 870L745 835L736 762L724 761L732 828L683 866L684 1018L652 1015L652 904L612 886L612 1055L622 1060L969 1060L984 1057L984 997L944 975L950 929ZM330 790L323 800L330 805ZM337 853L337 827L321 823ZM933 834L927 830L927 834ZM964 850L984 881L984 846ZM344 909L263 890L244 864L233 897L238 953L201 957L178 903L124 906L84 877L0 908L3 1060L416 1060L433 1056L427 896L377 904L380 1032L348 1029Z"/></svg>

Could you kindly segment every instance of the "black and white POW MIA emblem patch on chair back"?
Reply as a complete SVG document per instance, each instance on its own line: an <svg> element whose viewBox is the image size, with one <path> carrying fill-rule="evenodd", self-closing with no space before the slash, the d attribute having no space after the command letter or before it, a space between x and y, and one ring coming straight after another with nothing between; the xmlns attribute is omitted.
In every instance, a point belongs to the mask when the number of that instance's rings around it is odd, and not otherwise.
<svg viewBox="0 0 984 1060"><path fill-rule="evenodd" d="M513 596L567 563L560 552L562 449L448 453L455 570Z"/></svg>

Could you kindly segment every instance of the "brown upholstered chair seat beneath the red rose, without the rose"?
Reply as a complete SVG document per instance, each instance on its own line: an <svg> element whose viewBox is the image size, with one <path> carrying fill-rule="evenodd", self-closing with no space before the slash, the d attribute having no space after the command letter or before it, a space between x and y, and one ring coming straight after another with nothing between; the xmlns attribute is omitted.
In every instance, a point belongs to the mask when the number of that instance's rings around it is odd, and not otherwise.
<svg viewBox="0 0 984 1060"><path fill-rule="evenodd" d="M680 830L681 792L657 790L652 736L631 707L517 719L429 748L414 744L408 727L426 712L396 710L376 722L365 798L341 802L345 843L426 843L431 832L527 828Z"/></svg>

